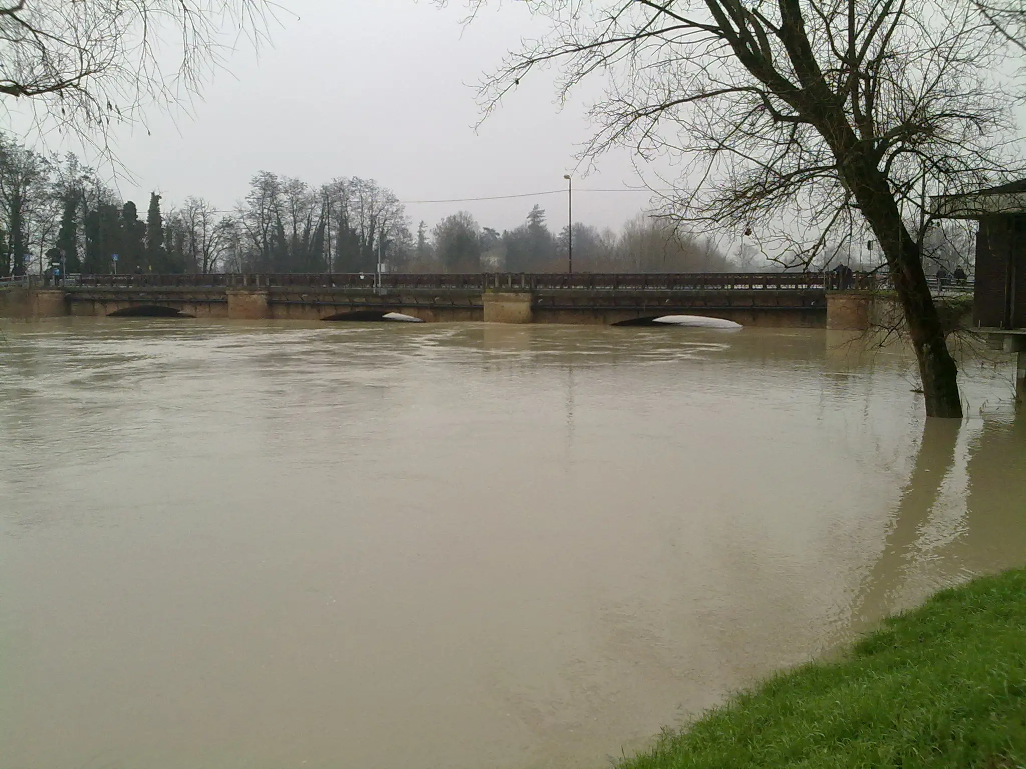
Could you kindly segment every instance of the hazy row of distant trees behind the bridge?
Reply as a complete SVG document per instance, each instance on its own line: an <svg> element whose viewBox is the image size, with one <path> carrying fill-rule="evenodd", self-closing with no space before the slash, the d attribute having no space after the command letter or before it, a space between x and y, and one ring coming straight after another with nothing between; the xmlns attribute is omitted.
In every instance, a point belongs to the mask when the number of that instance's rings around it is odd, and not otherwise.
<svg viewBox="0 0 1026 769"><path fill-rule="evenodd" d="M63 258L69 273L564 272L567 228L553 233L538 205L500 233L466 211L413 232L396 195L371 179L319 187L262 171L231 211L190 197L145 216L74 155L35 152L0 135L0 277L39 274ZM707 240L639 214L620 232L575 222L574 269L727 272ZM115 254L117 255L115 257ZM747 266L746 266L747 267Z"/></svg>

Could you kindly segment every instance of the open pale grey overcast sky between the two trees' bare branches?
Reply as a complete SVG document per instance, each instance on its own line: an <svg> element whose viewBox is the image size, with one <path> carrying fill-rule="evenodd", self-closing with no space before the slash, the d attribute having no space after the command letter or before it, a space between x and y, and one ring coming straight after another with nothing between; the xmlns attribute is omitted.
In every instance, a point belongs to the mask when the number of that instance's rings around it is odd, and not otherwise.
<svg viewBox="0 0 1026 769"><path fill-rule="evenodd" d="M118 155L135 175L119 185L125 198L142 207L156 190L169 205L197 195L228 208L260 170L311 184L372 177L404 201L565 187L563 174L590 135L588 94L560 111L552 74L539 73L473 128L479 113L472 85L535 29L522 4L496 5L464 28L459 0L445 9L427 0L284 3L291 12L281 12L273 47L259 55L240 49L191 115L151 112L149 135L140 128L118 134ZM584 189L638 184L629 151L604 156L597 172L577 183L575 219L619 228L650 196ZM466 209L502 230L519 225L535 202L553 230L562 228L565 195L409 204L407 212L416 227Z"/></svg>

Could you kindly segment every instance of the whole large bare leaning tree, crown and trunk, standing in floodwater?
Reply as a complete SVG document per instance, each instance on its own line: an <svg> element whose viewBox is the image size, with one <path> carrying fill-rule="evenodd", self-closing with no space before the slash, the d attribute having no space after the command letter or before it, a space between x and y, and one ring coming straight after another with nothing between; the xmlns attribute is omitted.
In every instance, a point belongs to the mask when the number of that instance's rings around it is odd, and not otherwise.
<svg viewBox="0 0 1026 769"><path fill-rule="evenodd" d="M486 0L472 0L477 12ZM958 417L957 369L923 274L923 179L951 190L1010 167L1009 42L971 0L528 0L551 32L482 83L485 115L531 71L561 96L607 77L585 154L682 160L676 215L811 233L788 257L865 227L886 258L926 413ZM850 228L850 218L858 227ZM925 216L918 217L923 226Z"/></svg>

